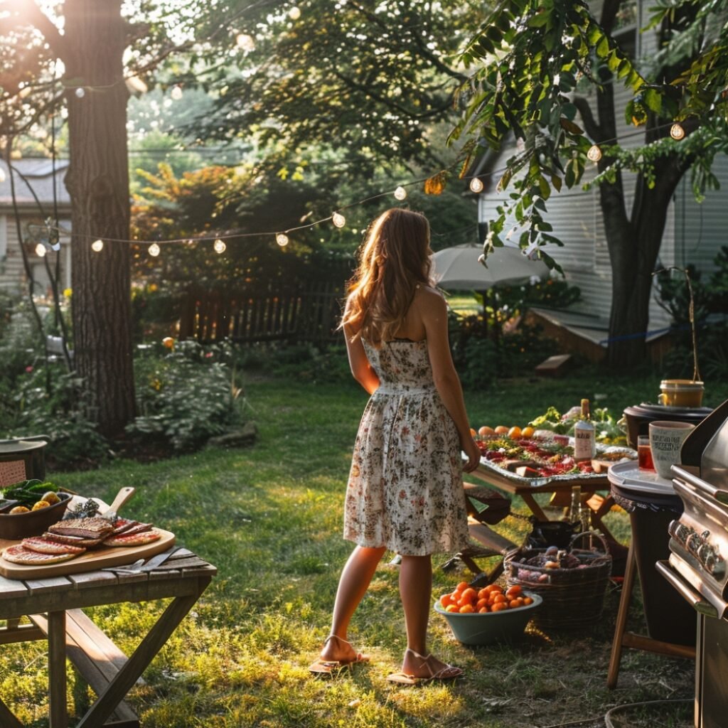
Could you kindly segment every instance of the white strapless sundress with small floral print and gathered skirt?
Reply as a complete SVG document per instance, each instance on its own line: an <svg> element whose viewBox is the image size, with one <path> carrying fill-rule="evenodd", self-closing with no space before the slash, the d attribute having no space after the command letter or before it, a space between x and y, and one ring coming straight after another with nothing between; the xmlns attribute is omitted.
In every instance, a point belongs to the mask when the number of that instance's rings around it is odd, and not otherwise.
<svg viewBox="0 0 728 728"><path fill-rule="evenodd" d="M459 551L468 542L459 437L427 341L363 344L380 386L355 441L344 538L408 556Z"/></svg>

